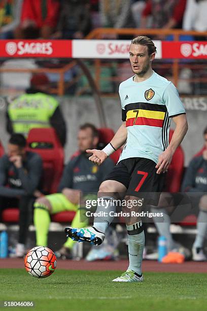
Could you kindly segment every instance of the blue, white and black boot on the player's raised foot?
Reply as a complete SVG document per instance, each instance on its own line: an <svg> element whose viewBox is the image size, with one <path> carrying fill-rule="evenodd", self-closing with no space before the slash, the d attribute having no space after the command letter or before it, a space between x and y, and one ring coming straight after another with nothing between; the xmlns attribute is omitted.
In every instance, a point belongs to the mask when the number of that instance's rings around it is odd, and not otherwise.
<svg viewBox="0 0 207 311"><path fill-rule="evenodd" d="M98 231L94 227L88 228L65 228L66 237L70 237L72 240L77 242L89 242L93 245L100 245L104 238L105 234Z"/></svg>

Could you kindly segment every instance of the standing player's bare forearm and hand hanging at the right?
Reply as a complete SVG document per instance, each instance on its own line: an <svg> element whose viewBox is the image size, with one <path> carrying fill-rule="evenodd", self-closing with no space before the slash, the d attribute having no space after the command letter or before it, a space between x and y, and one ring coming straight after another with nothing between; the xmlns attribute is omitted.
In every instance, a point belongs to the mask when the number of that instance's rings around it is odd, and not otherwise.
<svg viewBox="0 0 207 311"><path fill-rule="evenodd" d="M166 172L172 160L172 156L188 131L188 122L185 114L177 115L173 117L172 120L176 123L176 129L172 135L169 146L159 155L158 163L155 166L155 168L158 169L157 174Z"/></svg>

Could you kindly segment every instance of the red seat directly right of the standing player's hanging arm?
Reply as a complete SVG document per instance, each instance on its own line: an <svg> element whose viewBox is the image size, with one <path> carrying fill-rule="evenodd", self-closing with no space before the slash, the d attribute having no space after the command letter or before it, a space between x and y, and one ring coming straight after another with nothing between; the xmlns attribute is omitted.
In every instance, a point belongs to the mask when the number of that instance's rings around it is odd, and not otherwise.
<svg viewBox="0 0 207 311"><path fill-rule="evenodd" d="M174 131L169 131L169 141ZM166 192L179 192L184 171L184 152L181 146L176 149L166 175Z"/></svg>

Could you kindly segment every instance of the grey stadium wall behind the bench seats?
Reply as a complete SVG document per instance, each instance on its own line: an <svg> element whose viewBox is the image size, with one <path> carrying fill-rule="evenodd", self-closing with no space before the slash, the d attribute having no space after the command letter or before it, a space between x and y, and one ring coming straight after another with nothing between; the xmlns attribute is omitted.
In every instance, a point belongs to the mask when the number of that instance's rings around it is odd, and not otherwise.
<svg viewBox="0 0 207 311"><path fill-rule="evenodd" d="M188 166L193 155L203 145L202 131L207 126L207 98L191 97L183 98L187 111L189 130L184 138L182 147L185 152L185 166ZM65 162L77 149L77 130L85 122L94 123L99 127L98 114L92 97L62 97L59 99L63 111L67 129L67 144L65 146ZM107 126L116 131L121 125L121 106L119 99L103 98L103 108L106 115ZM8 134L6 133L6 106L0 103L0 131L1 141L6 147ZM171 121L171 128L174 129L174 122Z"/></svg>

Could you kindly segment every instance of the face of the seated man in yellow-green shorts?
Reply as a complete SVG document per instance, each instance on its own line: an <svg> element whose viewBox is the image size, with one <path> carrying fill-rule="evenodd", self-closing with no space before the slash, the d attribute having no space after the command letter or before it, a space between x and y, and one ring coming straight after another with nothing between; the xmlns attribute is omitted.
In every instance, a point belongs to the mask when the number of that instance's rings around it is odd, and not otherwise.
<svg viewBox="0 0 207 311"><path fill-rule="evenodd" d="M93 137L90 128L78 132L78 147L81 152L85 152L86 149L93 149L96 145L97 137Z"/></svg>

